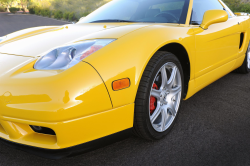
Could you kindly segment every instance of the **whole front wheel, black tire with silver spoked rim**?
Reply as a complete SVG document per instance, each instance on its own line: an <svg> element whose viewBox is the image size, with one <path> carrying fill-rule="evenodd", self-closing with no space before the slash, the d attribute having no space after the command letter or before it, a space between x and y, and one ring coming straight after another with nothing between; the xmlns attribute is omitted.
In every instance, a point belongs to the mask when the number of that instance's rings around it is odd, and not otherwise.
<svg viewBox="0 0 250 166"><path fill-rule="evenodd" d="M180 110L183 88L183 70L177 57L157 52L149 61L137 91L134 133L146 140L158 140L168 134Z"/></svg>

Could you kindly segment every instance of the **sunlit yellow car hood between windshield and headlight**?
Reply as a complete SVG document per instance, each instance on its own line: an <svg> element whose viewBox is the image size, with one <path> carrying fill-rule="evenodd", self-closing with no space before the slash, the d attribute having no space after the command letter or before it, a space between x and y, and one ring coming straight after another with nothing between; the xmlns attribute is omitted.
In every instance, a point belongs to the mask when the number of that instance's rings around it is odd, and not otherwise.
<svg viewBox="0 0 250 166"><path fill-rule="evenodd" d="M135 23L80 23L30 28L7 35L6 40L0 44L0 53L37 57L64 44L88 39L118 39L146 26L149 25Z"/></svg>

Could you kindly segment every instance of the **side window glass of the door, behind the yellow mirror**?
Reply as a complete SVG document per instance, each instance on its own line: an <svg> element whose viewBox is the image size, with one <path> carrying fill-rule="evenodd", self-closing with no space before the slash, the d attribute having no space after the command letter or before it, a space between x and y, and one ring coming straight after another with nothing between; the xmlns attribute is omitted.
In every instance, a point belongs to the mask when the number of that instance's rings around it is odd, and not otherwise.
<svg viewBox="0 0 250 166"><path fill-rule="evenodd" d="M192 25L200 25L207 10L225 10L218 0L194 0L191 17ZM228 13L228 11L227 11ZM228 13L228 17L231 17Z"/></svg>

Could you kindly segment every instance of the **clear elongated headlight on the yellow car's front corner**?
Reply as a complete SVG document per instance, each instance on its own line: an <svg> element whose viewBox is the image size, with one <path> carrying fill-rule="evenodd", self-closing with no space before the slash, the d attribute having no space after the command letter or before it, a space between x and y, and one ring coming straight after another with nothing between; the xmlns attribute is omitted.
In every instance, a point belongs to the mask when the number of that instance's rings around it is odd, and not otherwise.
<svg viewBox="0 0 250 166"><path fill-rule="evenodd" d="M42 56L34 65L37 70L65 70L98 51L115 39L96 39L59 47Z"/></svg>

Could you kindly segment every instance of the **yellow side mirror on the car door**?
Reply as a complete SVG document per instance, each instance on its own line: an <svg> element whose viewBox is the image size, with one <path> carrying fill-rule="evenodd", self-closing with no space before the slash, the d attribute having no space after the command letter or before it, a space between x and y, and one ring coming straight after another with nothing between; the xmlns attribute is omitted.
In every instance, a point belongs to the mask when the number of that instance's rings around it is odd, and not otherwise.
<svg viewBox="0 0 250 166"><path fill-rule="evenodd" d="M202 29L208 29L208 27L215 23L226 22L228 20L228 14L224 10L208 10L203 16L200 27Z"/></svg>

